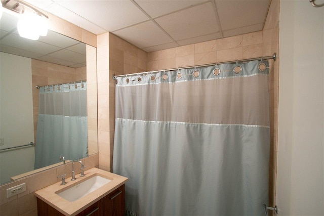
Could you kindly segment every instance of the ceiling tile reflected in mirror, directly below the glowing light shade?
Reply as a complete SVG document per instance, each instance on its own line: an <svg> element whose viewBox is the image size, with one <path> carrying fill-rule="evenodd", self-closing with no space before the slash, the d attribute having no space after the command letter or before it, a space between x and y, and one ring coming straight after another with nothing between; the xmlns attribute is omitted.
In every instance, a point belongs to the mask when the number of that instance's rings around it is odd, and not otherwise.
<svg viewBox="0 0 324 216"><path fill-rule="evenodd" d="M1 40L1 44L10 47L20 48L33 53L40 53L46 55L49 52L55 52L60 50L59 47L55 47L38 40L30 40L20 37L18 34L11 34Z"/></svg>

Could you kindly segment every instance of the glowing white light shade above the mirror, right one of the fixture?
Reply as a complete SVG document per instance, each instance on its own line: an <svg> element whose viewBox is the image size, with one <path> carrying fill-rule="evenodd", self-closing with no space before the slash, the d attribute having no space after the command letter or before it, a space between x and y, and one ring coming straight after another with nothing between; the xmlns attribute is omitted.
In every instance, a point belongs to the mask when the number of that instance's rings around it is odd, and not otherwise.
<svg viewBox="0 0 324 216"><path fill-rule="evenodd" d="M17 30L21 37L32 40L39 38L39 16L34 13L23 14L18 20Z"/></svg>

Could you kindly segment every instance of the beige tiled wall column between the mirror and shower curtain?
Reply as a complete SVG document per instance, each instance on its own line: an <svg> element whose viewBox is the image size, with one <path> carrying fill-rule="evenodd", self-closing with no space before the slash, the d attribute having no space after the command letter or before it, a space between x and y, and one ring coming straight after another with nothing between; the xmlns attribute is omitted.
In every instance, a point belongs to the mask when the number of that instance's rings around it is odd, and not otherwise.
<svg viewBox="0 0 324 216"><path fill-rule="evenodd" d="M147 54L111 33L98 35L97 41L99 168L111 171L115 122L112 75L147 71Z"/></svg>

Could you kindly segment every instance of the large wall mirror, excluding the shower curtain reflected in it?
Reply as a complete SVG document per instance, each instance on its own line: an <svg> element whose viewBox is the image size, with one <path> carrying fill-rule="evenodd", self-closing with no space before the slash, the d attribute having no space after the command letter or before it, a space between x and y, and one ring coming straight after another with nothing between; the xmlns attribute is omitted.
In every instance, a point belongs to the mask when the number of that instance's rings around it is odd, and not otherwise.
<svg viewBox="0 0 324 216"><path fill-rule="evenodd" d="M28 144L37 145L35 85L87 80L88 155L98 152L96 48L50 30L38 40L25 39L17 32L17 22L7 13L0 19L0 185L34 168L35 147ZM12 148L21 145L27 146ZM57 162L62 164L59 157Z"/></svg>

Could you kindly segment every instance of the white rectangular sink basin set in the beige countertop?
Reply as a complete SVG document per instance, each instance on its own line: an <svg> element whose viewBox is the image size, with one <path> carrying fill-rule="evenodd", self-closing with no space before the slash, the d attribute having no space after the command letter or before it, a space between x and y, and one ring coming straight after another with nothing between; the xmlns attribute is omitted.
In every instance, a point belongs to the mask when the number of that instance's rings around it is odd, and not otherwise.
<svg viewBox="0 0 324 216"><path fill-rule="evenodd" d="M97 190L98 188L108 184L111 180L103 178L101 176L93 176L84 182L74 185L62 192L57 193L60 197L66 199L67 201L73 202L90 194L91 192Z"/></svg>

